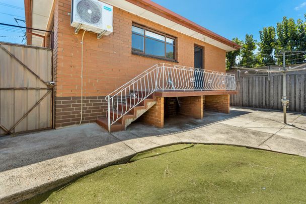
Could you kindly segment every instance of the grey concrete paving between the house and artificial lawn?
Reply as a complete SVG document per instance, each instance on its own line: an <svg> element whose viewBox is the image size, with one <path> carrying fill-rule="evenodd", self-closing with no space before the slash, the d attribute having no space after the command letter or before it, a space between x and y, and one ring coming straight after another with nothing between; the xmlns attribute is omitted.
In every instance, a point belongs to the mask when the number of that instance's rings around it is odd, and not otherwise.
<svg viewBox="0 0 306 204"><path fill-rule="evenodd" d="M157 147L227 144L306 157L306 114L231 108L205 112L203 119L176 116L160 129L135 121L108 133L96 124L0 138L0 203L45 192L97 169L122 163Z"/></svg>

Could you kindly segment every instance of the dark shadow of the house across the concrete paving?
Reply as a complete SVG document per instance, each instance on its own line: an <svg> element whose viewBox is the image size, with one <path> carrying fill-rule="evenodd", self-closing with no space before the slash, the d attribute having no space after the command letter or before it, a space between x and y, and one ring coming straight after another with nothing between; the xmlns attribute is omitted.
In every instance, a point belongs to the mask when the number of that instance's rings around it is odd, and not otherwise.
<svg viewBox="0 0 306 204"><path fill-rule="evenodd" d="M164 128L156 128L135 121L128 126L126 131L113 133L109 133L99 125L91 123L24 134L14 138L2 137L0 138L0 172L124 140L149 136L159 137L165 134L189 131L248 113L251 112L231 110L230 114L225 114L205 111L203 119L178 115L166 118Z"/></svg>

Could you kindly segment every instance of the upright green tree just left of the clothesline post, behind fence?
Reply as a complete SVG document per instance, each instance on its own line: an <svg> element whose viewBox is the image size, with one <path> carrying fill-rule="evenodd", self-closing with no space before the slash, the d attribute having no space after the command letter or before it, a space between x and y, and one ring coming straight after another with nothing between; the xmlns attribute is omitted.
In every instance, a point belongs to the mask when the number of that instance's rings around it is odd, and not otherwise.
<svg viewBox="0 0 306 204"><path fill-rule="evenodd" d="M260 64L258 66L262 66L263 64L273 65L275 63L273 50L276 43L276 33L275 28L273 26L264 27L262 31L259 31L260 34L260 42L258 43L258 61Z"/></svg>

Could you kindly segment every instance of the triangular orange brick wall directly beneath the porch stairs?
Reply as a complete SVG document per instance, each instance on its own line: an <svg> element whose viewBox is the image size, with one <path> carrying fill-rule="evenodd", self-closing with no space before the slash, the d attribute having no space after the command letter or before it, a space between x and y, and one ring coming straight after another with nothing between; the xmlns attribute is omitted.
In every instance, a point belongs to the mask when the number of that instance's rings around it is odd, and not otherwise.
<svg viewBox="0 0 306 204"><path fill-rule="evenodd" d="M157 103L141 115L139 120L156 127L164 127L164 97L157 97Z"/></svg>

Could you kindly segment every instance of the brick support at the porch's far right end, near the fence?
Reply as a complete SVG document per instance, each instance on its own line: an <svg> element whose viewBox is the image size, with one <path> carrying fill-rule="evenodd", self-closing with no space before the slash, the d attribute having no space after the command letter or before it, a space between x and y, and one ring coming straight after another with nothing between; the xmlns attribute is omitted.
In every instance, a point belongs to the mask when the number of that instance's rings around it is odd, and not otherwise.
<svg viewBox="0 0 306 204"><path fill-rule="evenodd" d="M230 95L205 96L205 109L230 113Z"/></svg>

